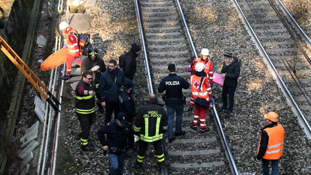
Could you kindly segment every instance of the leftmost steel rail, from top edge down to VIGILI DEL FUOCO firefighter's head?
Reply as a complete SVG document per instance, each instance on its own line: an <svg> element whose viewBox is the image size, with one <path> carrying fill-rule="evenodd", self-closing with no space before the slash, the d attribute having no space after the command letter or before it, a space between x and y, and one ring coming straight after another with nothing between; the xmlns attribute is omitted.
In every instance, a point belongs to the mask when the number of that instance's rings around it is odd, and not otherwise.
<svg viewBox="0 0 311 175"><path fill-rule="evenodd" d="M148 73L149 90L150 90L150 93L153 93L152 80L151 80L149 63L148 63L148 57L147 57L147 52L146 52L144 33L142 31L142 21L140 19L140 14L139 14L139 8L138 8L137 0L135 0L135 10L136 10L137 22L138 22L138 26L139 26L140 39L142 41L142 49L144 50L145 64L146 64L146 69L147 69L146 72Z"/></svg>

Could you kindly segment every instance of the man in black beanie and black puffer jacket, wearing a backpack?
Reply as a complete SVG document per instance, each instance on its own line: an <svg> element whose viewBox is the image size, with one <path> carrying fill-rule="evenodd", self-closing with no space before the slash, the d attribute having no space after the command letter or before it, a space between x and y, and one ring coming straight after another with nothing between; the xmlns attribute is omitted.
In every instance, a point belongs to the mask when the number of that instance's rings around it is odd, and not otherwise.
<svg viewBox="0 0 311 175"><path fill-rule="evenodd" d="M134 74L136 72L136 57L140 53L140 46L136 43L131 45L131 50L125 54L123 73L126 81L132 81L135 85ZM132 88L131 98L134 99L134 95L136 93L135 86Z"/></svg>

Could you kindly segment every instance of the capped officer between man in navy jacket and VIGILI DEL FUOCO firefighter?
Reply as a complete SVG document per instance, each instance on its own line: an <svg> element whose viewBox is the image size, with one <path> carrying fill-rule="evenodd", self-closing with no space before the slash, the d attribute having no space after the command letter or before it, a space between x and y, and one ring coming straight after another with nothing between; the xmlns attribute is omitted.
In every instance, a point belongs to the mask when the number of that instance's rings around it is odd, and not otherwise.
<svg viewBox="0 0 311 175"><path fill-rule="evenodd" d="M131 91L134 87L134 83L132 81L125 81L123 83L123 92L119 95L119 107L120 112L126 114L126 120L131 123L131 127L133 125L133 118L136 117L136 109L134 100L131 97ZM134 133L130 133L129 137L129 145L127 149L132 149L134 146Z"/></svg>

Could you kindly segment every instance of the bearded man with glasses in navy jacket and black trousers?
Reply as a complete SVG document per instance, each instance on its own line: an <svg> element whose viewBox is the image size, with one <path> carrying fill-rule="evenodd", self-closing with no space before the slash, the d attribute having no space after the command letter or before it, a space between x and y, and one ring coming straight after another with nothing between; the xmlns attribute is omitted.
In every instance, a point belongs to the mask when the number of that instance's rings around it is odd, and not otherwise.
<svg viewBox="0 0 311 175"><path fill-rule="evenodd" d="M125 81L123 71L117 67L116 60L110 60L107 69L100 76L98 88L101 105L106 109L105 123L111 121L113 112L114 119L120 112L118 97Z"/></svg>

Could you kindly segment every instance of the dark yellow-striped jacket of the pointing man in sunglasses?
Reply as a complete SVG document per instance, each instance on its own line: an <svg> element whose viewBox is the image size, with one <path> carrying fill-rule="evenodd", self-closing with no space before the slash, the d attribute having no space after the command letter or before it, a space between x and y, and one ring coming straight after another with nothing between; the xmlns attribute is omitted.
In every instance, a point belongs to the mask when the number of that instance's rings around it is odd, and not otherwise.
<svg viewBox="0 0 311 175"><path fill-rule="evenodd" d="M95 98L93 95L84 95L78 92L78 87L83 86L85 90L93 90L93 87L81 79L76 87L76 112L89 114L95 112Z"/></svg>

